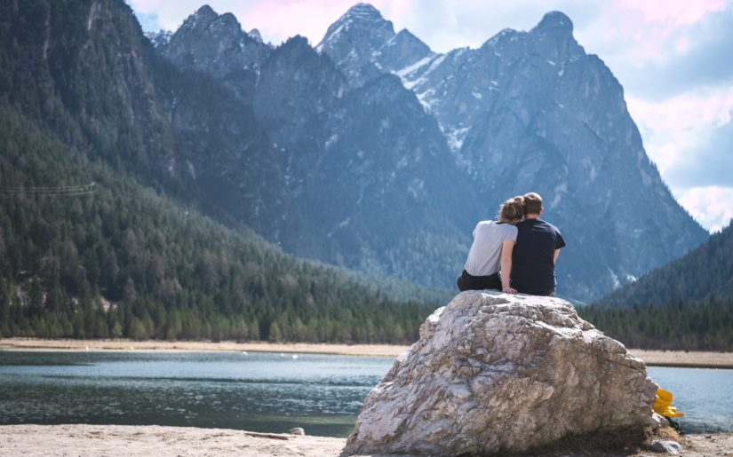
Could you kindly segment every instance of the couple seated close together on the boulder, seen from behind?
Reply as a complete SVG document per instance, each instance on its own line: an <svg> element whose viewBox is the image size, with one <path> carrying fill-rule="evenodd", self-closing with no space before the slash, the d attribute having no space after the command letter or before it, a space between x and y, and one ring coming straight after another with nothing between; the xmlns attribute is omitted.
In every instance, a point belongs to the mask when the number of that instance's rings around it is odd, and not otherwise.
<svg viewBox="0 0 733 457"><path fill-rule="evenodd" d="M458 289L553 295L554 264L565 240L539 218L542 211L542 197L527 193L505 201L498 222L479 222Z"/></svg>

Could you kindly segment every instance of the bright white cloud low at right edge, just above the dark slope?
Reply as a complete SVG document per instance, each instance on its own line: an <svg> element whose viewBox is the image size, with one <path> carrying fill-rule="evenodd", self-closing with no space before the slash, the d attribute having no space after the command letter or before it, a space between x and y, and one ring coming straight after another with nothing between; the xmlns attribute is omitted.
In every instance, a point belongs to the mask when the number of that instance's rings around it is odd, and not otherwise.
<svg viewBox="0 0 733 457"><path fill-rule="evenodd" d="M733 218L733 187L691 187L677 201L710 232L720 232Z"/></svg>

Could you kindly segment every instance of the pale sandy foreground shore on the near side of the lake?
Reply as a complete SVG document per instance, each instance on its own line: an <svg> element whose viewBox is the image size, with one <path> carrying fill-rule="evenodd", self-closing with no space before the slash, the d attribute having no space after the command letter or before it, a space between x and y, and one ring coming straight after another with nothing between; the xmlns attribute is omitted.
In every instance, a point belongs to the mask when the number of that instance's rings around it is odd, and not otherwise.
<svg viewBox="0 0 733 457"><path fill-rule="evenodd" d="M303 437L232 429L195 429L129 425L4 425L0 449L4 456L28 455L313 455L338 456L346 438ZM682 437L683 455L733 454L733 434ZM597 455L553 452L543 455ZM647 450L602 453L607 457L654 455ZM658 455L658 454L657 454Z"/></svg>

